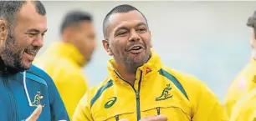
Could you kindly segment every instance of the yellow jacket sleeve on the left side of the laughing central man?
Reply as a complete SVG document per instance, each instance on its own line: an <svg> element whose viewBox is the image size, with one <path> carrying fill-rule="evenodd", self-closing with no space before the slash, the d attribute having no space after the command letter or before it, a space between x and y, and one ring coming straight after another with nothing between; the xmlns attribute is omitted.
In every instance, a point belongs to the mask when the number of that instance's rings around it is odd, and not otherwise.
<svg viewBox="0 0 256 121"><path fill-rule="evenodd" d="M84 94L84 97L81 98L79 104L77 105L72 120L73 121L94 121L90 112L90 97L89 91Z"/></svg>

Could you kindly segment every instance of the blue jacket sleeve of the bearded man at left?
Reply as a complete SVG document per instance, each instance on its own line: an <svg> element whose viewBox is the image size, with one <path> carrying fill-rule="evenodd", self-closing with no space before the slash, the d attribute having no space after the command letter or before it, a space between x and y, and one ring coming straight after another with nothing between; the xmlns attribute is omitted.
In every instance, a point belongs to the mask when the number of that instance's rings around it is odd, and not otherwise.
<svg viewBox="0 0 256 121"><path fill-rule="evenodd" d="M54 84L54 81L49 77L47 80L49 91L49 102L51 108L52 121L67 120L69 121L69 115L66 111L64 103L59 95L59 92Z"/></svg>

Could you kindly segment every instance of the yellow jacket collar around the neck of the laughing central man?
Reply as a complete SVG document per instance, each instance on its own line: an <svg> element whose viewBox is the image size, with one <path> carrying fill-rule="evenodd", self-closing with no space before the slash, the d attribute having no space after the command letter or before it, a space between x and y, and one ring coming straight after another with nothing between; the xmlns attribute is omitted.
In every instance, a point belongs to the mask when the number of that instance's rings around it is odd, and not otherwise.
<svg viewBox="0 0 256 121"><path fill-rule="evenodd" d="M114 65L115 60L110 59L107 68L108 72L110 74L110 78L113 78L114 80L121 78L120 74L115 70ZM143 77L150 76L153 73L157 73L162 67L161 58L157 53L155 53L154 50L151 49L151 58L149 61L145 64L143 64L141 67L137 68L136 71L136 77L141 73L143 74ZM121 78L123 79L123 78ZM124 79L123 79L124 80Z"/></svg>

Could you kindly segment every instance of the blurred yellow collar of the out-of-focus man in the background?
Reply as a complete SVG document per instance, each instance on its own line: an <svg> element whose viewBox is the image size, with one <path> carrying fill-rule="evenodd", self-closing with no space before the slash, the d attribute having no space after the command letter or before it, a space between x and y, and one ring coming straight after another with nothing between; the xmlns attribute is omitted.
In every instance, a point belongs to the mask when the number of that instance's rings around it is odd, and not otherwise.
<svg viewBox="0 0 256 121"><path fill-rule="evenodd" d="M64 42L54 43L49 47L46 53L52 54L54 56L69 58L74 61L74 63L78 63L79 65L84 65L86 60L84 56L79 53L79 50L74 47L74 45Z"/></svg>

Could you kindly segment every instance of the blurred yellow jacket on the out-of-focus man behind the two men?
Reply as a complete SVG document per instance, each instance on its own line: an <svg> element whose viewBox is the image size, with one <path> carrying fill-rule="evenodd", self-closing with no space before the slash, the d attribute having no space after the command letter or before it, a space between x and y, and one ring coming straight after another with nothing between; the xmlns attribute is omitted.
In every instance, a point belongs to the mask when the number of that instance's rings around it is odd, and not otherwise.
<svg viewBox="0 0 256 121"><path fill-rule="evenodd" d="M53 78L64 105L72 118L74 109L88 89L82 73L84 57L69 43L52 44L35 64Z"/></svg>

